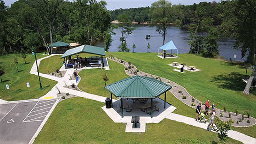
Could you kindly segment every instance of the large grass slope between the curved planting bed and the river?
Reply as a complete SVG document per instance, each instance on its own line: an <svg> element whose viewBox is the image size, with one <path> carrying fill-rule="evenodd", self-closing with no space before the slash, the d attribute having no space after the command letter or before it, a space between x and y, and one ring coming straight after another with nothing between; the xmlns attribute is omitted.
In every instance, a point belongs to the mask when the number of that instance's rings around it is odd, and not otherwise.
<svg viewBox="0 0 256 144"><path fill-rule="evenodd" d="M226 62L219 59L203 58L191 54L179 54L180 58L161 59L156 53L121 53L111 52L113 56L131 61L140 71L154 74L176 82L186 88L195 98L210 104L215 103L216 108L235 112L235 109L245 113L250 110L251 116L256 117L256 90L253 88L250 95L242 94L246 85L242 81L245 77L244 63ZM169 66L172 62L193 65L199 72L175 72L175 67ZM250 74L251 71L248 70Z"/></svg>

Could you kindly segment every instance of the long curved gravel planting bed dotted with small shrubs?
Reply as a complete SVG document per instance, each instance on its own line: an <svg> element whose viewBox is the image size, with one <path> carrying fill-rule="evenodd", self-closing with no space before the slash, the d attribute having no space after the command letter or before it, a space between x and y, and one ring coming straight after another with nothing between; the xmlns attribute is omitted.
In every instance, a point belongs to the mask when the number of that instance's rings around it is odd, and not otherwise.
<svg viewBox="0 0 256 144"><path fill-rule="evenodd" d="M169 91L178 100L182 101L183 103L185 103L186 105L188 105L192 108L196 108L198 103L200 102L202 104L201 110L205 111L205 105L204 105L205 103L192 97L183 86L180 86L180 85L176 84L175 82L170 81L168 79L161 78L161 77L158 77L158 76L146 73L146 72L141 72L136 68L136 66L132 65L130 62L126 62L126 61L118 59L116 57L108 57L108 58L112 61L115 61L117 63L124 65L125 73L131 77L135 76L135 75L145 76L145 77L149 77L149 78L158 79L168 85L171 85L172 88ZM248 117L248 115L241 115L241 114L236 115L236 113L227 112L227 111L225 112L224 110L221 110L218 108L215 108L215 110L216 110L216 116L218 116L222 121L229 121L230 119L232 119L234 121L234 123L232 123L231 125L234 127L249 127L249 126L256 124L256 119L251 116Z"/></svg>

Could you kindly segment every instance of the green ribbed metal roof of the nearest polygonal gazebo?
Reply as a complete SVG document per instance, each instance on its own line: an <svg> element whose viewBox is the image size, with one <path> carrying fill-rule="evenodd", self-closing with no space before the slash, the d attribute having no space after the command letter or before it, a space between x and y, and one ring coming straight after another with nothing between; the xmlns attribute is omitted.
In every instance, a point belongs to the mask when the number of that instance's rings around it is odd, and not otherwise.
<svg viewBox="0 0 256 144"><path fill-rule="evenodd" d="M114 82L105 88L117 98L156 98L172 86L154 78L133 76Z"/></svg>

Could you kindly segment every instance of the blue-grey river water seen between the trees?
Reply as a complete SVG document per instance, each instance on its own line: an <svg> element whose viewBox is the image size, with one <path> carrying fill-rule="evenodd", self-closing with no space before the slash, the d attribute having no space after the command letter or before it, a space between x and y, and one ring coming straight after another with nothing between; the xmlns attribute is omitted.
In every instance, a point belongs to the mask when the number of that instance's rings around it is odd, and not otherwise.
<svg viewBox="0 0 256 144"><path fill-rule="evenodd" d="M162 46L162 35L159 32L155 31L155 27L148 27L145 24L135 24L133 25L136 29L132 32L132 35L127 38L127 45L130 49L130 52L133 51L133 43L136 45L135 52L148 52L147 43L150 43L150 52L158 52L158 48ZM121 37L121 30L114 29L114 32L117 34L112 36L112 45L110 46L109 51L118 51L118 45L120 44L119 38ZM146 35L150 34L151 38L146 39ZM165 43L173 41L178 49L178 53L186 53L190 50L190 45L188 45L189 35L187 29L182 29L181 27L168 27ZM224 56L225 58L232 58L234 60L234 55L236 56L235 60L244 61L246 58L241 58L241 50L236 50L232 46L234 40L226 39L219 41L219 56ZM104 41L100 40L93 45L104 48ZM170 52L170 51L167 51ZM172 50L173 53L176 53L176 50Z"/></svg>

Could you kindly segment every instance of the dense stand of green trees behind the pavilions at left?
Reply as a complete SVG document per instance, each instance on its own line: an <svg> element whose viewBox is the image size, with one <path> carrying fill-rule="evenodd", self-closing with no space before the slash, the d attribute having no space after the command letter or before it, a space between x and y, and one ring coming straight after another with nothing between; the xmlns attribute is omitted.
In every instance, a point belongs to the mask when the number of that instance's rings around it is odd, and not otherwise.
<svg viewBox="0 0 256 144"><path fill-rule="evenodd" d="M110 27L105 1L0 0L0 54L45 47L56 41L91 44Z"/></svg>

